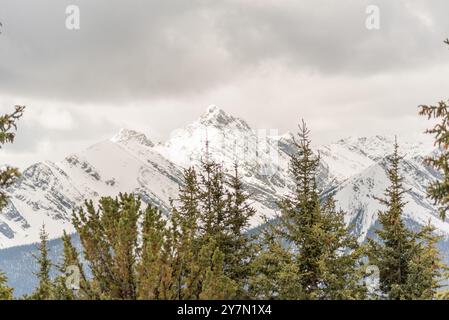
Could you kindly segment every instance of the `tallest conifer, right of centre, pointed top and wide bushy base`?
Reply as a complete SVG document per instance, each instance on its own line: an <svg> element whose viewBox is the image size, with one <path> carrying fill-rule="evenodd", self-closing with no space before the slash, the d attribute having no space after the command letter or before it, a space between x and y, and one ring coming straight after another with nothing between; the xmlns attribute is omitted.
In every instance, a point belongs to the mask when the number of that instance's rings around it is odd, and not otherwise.
<svg viewBox="0 0 449 320"><path fill-rule="evenodd" d="M295 189L280 204L277 236L286 242L291 261L283 266L283 282L297 281L287 290L290 299L351 299L363 297L358 278L359 250L345 226L343 212L329 198L321 203L317 188L319 157L311 149L309 130L299 126L290 170Z"/></svg>

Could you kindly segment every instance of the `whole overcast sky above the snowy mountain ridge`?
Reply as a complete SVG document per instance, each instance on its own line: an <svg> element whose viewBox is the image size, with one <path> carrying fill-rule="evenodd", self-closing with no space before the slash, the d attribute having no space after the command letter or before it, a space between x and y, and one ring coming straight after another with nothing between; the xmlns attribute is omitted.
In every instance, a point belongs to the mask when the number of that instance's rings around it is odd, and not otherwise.
<svg viewBox="0 0 449 320"><path fill-rule="evenodd" d="M448 12L447 0L0 0L0 113L27 105L0 163L57 161L121 127L164 140L210 104L281 133L305 118L316 143L414 139L428 125L417 106L449 98Z"/></svg>

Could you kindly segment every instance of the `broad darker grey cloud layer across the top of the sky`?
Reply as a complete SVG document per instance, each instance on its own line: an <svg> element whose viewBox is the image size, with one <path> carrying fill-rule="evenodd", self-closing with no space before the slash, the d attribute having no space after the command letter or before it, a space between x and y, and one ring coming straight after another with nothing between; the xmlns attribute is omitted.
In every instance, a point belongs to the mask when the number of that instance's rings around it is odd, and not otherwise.
<svg viewBox="0 0 449 320"><path fill-rule="evenodd" d="M435 29L411 12L430 15ZM65 29L65 8L81 30ZM364 27L368 4L381 29ZM444 0L2 0L0 93L120 104L206 93L257 73L366 76L446 58Z"/></svg>

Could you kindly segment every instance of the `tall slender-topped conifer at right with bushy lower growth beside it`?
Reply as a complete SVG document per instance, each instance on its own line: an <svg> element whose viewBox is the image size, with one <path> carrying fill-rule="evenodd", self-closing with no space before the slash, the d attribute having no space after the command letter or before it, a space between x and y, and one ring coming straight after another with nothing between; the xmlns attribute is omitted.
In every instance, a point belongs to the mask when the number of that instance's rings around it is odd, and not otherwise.
<svg viewBox="0 0 449 320"><path fill-rule="evenodd" d="M386 206L379 212L381 229L376 230L379 242L369 240L369 263L380 271L380 290L384 297L398 299L431 298L438 288L441 262L435 247L438 237L433 229L419 232L409 230L404 223L403 200L406 192L399 168L401 160L397 142L393 154L388 157L390 186L385 198L378 198Z"/></svg>

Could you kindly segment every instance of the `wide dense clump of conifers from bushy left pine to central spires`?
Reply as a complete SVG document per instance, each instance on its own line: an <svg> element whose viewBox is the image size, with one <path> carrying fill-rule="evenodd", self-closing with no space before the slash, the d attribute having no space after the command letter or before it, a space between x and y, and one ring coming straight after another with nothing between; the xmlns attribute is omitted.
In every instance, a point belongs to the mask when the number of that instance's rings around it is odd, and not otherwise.
<svg viewBox="0 0 449 320"><path fill-rule="evenodd" d="M225 299L246 295L250 242L246 204L237 169L226 185L221 167L204 163L197 177L184 172L169 218L140 199L120 194L74 212L92 279L82 273L77 296L66 270L79 263L68 236L55 292L64 299ZM226 253L225 253L226 252Z"/></svg>

